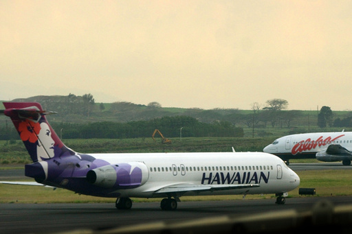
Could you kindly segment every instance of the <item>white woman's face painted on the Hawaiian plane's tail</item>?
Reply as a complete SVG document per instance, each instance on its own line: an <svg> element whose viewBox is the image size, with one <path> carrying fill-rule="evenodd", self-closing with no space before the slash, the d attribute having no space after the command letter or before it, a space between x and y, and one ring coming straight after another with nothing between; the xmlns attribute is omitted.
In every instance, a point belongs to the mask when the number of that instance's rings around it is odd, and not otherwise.
<svg viewBox="0 0 352 234"><path fill-rule="evenodd" d="M36 153L39 161L41 161L41 159L50 159L54 157L55 141L52 139L52 131L47 123L41 123L41 131L38 134L38 138L39 141L36 148Z"/></svg>

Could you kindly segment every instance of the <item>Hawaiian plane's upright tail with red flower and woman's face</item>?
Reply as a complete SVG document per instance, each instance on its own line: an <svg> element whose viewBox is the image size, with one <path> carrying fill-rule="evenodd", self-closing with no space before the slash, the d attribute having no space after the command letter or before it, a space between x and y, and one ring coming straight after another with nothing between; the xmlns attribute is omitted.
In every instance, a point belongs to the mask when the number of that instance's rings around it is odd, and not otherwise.
<svg viewBox="0 0 352 234"><path fill-rule="evenodd" d="M3 102L3 106L3 114L11 118L34 163L75 154L47 122L45 115L54 112L43 110L36 102Z"/></svg>

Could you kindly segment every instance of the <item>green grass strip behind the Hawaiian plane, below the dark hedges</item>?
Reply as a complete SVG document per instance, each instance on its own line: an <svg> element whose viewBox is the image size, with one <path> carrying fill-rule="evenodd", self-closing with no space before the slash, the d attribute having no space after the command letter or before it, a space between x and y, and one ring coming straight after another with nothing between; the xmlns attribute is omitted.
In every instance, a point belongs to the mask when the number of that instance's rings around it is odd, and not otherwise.
<svg viewBox="0 0 352 234"><path fill-rule="evenodd" d="M69 148L81 153L126 153L126 152L238 152L263 151L272 143L272 137L187 137L171 138L170 145L156 138L137 139L63 139ZM0 141L0 165L31 163L22 141Z"/></svg>

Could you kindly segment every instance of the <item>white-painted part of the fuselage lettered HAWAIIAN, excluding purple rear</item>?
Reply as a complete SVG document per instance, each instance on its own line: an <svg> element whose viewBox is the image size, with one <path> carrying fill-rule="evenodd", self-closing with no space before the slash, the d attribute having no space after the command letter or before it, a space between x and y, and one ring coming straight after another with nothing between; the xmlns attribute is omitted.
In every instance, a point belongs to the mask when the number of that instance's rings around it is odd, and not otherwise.
<svg viewBox="0 0 352 234"><path fill-rule="evenodd" d="M263 152L90 154L113 164L139 162L148 169L144 185L120 189L122 196L151 198L172 185L245 185L259 187L202 192L208 194L279 194L298 187L300 178L277 156ZM197 191L185 195L197 195ZM162 197L162 195L160 195Z"/></svg>

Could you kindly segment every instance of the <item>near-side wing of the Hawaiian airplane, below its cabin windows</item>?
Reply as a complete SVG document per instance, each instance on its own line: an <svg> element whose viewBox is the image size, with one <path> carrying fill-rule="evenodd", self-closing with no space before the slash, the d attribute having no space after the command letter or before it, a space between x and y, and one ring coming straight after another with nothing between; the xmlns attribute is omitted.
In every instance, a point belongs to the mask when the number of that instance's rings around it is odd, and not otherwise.
<svg viewBox="0 0 352 234"><path fill-rule="evenodd" d="M193 184L177 184L162 187L155 191L155 194L168 194L168 193L185 193L187 191L201 192L201 191L219 191L229 189L246 189L252 187L259 187L258 184L248 185L193 185Z"/></svg>

